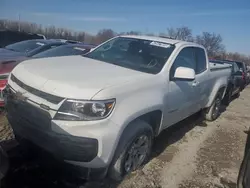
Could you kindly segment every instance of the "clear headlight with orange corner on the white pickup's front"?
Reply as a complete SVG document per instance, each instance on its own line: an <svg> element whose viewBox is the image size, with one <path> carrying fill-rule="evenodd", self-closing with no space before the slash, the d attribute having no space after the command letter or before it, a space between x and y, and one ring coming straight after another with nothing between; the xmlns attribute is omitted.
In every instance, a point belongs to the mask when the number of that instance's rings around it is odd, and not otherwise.
<svg viewBox="0 0 250 188"><path fill-rule="evenodd" d="M115 99L105 101L66 100L54 119L68 121L91 121L106 118L115 106Z"/></svg>

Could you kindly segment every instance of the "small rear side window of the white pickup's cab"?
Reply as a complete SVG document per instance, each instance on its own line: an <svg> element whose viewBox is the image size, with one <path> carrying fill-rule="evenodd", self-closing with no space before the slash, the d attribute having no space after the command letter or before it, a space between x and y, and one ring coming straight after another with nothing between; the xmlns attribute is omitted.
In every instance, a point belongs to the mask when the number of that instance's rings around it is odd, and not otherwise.
<svg viewBox="0 0 250 188"><path fill-rule="evenodd" d="M206 54L202 48L195 48L196 69L195 73L200 74L207 70Z"/></svg>

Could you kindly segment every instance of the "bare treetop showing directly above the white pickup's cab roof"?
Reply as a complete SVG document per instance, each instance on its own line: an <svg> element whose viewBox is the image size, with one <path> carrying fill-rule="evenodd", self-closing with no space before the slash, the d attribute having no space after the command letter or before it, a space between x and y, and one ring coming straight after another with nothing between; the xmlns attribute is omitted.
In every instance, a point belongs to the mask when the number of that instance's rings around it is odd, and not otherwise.
<svg viewBox="0 0 250 188"><path fill-rule="evenodd" d="M192 30L186 26L179 28L168 28L167 35L178 40L193 41Z"/></svg>

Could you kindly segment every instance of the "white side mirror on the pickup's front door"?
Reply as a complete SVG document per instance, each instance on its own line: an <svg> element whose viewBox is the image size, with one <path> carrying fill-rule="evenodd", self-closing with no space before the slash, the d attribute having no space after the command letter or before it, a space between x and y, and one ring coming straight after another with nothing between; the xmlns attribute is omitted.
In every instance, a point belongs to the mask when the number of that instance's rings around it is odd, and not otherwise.
<svg viewBox="0 0 250 188"><path fill-rule="evenodd" d="M187 67L178 67L175 70L174 78L183 80L194 80L195 79L194 69Z"/></svg>

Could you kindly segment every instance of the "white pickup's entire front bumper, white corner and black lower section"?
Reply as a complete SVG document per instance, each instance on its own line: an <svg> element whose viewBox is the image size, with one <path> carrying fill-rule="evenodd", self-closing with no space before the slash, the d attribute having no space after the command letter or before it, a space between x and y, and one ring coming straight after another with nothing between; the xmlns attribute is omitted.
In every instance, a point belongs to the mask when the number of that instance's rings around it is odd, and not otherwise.
<svg viewBox="0 0 250 188"><path fill-rule="evenodd" d="M15 91L12 91L15 93ZM7 118L17 137L25 138L67 163L91 169L107 168L118 143L119 128L112 121L53 120L32 101L7 95Z"/></svg>

